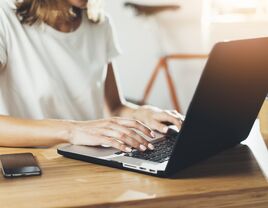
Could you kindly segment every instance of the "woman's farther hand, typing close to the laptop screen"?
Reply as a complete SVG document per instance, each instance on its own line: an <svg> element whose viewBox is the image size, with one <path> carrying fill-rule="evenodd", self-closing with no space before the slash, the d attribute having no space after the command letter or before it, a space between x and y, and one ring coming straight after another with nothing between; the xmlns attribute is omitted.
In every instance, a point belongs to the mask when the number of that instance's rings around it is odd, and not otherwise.
<svg viewBox="0 0 268 208"><path fill-rule="evenodd" d="M161 110L152 106L141 106L133 112L132 116L151 129L163 134L168 131L168 126L165 123L176 125L180 128L184 120L184 116L175 110Z"/></svg>

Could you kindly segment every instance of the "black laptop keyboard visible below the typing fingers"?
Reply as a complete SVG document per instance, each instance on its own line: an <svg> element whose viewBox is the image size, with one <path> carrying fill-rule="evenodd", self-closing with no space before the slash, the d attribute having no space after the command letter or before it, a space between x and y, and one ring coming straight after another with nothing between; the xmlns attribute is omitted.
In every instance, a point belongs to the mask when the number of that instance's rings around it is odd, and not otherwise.
<svg viewBox="0 0 268 208"><path fill-rule="evenodd" d="M146 150L145 152L134 150L131 153L125 153L124 156L162 163L169 159L175 142L175 136L167 137L162 141L154 143L154 150ZM122 152L118 152L116 154L122 154Z"/></svg>

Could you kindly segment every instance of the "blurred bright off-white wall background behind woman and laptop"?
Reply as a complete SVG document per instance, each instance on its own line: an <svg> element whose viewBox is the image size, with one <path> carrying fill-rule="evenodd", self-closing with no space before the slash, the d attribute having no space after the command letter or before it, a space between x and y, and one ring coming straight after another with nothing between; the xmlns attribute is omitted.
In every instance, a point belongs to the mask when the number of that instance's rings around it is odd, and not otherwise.
<svg viewBox="0 0 268 208"><path fill-rule="evenodd" d="M126 2L145 6L179 5L154 15L137 16ZM268 0L106 0L123 54L117 58L127 98L140 101L159 58L169 54L208 54L218 41L268 35ZM148 7L146 7L148 8ZM182 112L187 111L205 59L171 60L168 67ZM164 73L146 100L174 108Z"/></svg>

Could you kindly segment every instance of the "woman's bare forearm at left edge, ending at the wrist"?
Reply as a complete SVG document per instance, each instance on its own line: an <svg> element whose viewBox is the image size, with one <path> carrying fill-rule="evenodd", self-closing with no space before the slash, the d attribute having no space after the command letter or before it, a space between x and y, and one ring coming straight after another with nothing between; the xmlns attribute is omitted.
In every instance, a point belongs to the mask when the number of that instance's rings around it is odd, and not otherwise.
<svg viewBox="0 0 268 208"><path fill-rule="evenodd" d="M68 142L69 122L0 116L0 146L47 147Z"/></svg>

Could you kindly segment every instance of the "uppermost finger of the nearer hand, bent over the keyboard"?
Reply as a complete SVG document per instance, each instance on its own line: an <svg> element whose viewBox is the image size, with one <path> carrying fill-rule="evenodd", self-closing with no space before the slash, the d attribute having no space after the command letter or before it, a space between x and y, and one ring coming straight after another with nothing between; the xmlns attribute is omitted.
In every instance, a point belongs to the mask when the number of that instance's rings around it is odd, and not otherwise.
<svg viewBox="0 0 268 208"><path fill-rule="evenodd" d="M155 137L153 131L149 127L147 127L145 124L141 123L140 121L133 120L133 119L121 119L121 118L115 118L113 119L113 121L119 125L139 130L148 137L151 137L151 138Z"/></svg>

